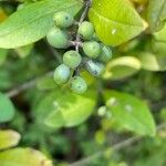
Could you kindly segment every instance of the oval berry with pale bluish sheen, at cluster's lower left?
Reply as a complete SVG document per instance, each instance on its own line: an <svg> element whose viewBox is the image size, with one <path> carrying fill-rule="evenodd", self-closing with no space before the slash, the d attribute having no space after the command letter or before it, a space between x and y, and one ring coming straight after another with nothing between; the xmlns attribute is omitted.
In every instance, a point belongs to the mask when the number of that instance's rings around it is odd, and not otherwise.
<svg viewBox="0 0 166 166"><path fill-rule="evenodd" d="M61 64L55 69L53 77L58 85L62 85L69 81L70 75L71 72L69 66L65 64Z"/></svg>

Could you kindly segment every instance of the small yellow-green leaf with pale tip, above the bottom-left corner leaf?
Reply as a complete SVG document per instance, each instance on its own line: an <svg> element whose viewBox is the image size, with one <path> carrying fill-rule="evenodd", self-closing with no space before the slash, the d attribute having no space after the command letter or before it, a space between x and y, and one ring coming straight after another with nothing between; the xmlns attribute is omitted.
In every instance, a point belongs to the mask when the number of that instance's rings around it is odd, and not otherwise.
<svg viewBox="0 0 166 166"><path fill-rule="evenodd" d="M20 134L14 131L0 131L0 149L18 145L20 137Z"/></svg>

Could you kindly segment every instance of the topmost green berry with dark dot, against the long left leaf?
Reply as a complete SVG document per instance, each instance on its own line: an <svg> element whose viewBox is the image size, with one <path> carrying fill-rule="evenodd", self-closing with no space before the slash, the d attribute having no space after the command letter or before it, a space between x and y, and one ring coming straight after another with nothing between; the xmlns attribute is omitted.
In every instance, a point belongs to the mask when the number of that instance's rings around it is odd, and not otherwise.
<svg viewBox="0 0 166 166"><path fill-rule="evenodd" d="M62 29L72 25L74 22L73 17L65 11L56 12L53 15L53 20L55 22L55 25Z"/></svg>

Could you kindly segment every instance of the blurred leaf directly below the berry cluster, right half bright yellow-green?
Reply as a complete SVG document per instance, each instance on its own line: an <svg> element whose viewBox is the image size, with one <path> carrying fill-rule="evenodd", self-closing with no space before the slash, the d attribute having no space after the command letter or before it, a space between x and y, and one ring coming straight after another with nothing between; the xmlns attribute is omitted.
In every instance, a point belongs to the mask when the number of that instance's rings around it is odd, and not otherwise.
<svg viewBox="0 0 166 166"><path fill-rule="evenodd" d="M95 106L95 92L76 95L56 90L44 97L37 106L38 120L51 127L71 127L84 122Z"/></svg>

